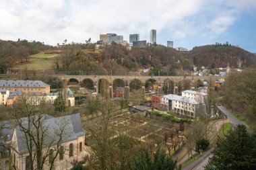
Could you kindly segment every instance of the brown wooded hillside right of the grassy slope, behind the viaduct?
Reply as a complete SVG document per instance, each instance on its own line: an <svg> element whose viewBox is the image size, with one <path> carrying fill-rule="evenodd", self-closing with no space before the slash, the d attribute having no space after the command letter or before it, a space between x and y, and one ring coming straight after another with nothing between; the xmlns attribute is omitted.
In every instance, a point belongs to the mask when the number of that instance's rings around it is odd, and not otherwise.
<svg viewBox="0 0 256 170"><path fill-rule="evenodd" d="M226 67L245 68L255 65L256 57L250 52L226 45L207 45L189 52L179 52L165 46L132 48L113 44L99 53L81 50L77 44L69 44L63 50L63 70L69 74L125 75L128 71L150 68L149 75L186 75L193 65L208 69Z"/></svg>

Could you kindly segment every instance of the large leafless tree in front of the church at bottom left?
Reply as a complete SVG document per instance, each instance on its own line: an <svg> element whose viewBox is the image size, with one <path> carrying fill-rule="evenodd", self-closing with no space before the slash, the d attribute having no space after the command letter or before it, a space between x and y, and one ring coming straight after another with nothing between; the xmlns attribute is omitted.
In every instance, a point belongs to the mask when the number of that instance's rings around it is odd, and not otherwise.
<svg viewBox="0 0 256 170"><path fill-rule="evenodd" d="M34 105L37 102L38 105ZM45 105L43 100L39 101L37 97L28 99L28 96L23 96L13 104L15 130L20 134L22 143L20 146L28 152L30 169L44 169L47 161L49 161L49 169L53 169L63 136L67 135L65 120L59 120L55 122L55 126L49 127L44 114L47 112Z"/></svg>

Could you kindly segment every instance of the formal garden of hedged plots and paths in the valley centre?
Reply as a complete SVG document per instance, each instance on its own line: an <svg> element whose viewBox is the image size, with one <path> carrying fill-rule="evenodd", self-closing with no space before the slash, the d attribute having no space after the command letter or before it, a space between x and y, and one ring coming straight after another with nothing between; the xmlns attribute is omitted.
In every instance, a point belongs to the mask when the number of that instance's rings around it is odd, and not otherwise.
<svg viewBox="0 0 256 170"><path fill-rule="evenodd" d="M93 125L92 125L93 124ZM95 140L90 136L91 128L95 132L100 132L98 130L98 124L92 122L88 126L86 134L86 144L95 144ZM178 144L181 146L184 136L183 132L179 132L179 138L177 137L177 129L179 129L179 124L164 122L162 120L146 118L140 114L121 114L110 118L110 124L108 125L108 136L111 139L115 139L118 135L127 134L137 140L140 140L139 145L145 145L152 148L152 151L156 151L158 146L161 147L163 151L170 151L170 154L174 153L175 150L179 148ZM172 140L171 140L172 134Z"/></svg>

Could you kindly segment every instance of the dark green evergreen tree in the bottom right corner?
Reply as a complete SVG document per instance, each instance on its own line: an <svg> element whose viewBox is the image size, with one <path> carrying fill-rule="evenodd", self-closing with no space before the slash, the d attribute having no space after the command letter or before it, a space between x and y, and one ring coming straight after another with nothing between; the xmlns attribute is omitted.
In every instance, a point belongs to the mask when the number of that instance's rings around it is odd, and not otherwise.
<svg viewBox="0 0 256 170"><path fill-rule="evenodd" d="M256 169L256 142L246 127L238 125L226 138L218 138L205 169Z"/></svg>

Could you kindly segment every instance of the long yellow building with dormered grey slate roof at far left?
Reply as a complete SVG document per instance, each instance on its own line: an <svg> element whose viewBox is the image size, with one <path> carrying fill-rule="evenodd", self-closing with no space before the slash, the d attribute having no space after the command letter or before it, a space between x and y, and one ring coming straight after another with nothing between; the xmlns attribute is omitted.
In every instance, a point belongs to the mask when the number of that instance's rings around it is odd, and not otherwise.
<svg viewBox="0 0 256 170"><path fill-rule="evenodd" d="M0 89L7 89L10 93L15 90L21 90L23 93L50 93L50 85L42 81L0 80Z"/></svg>

